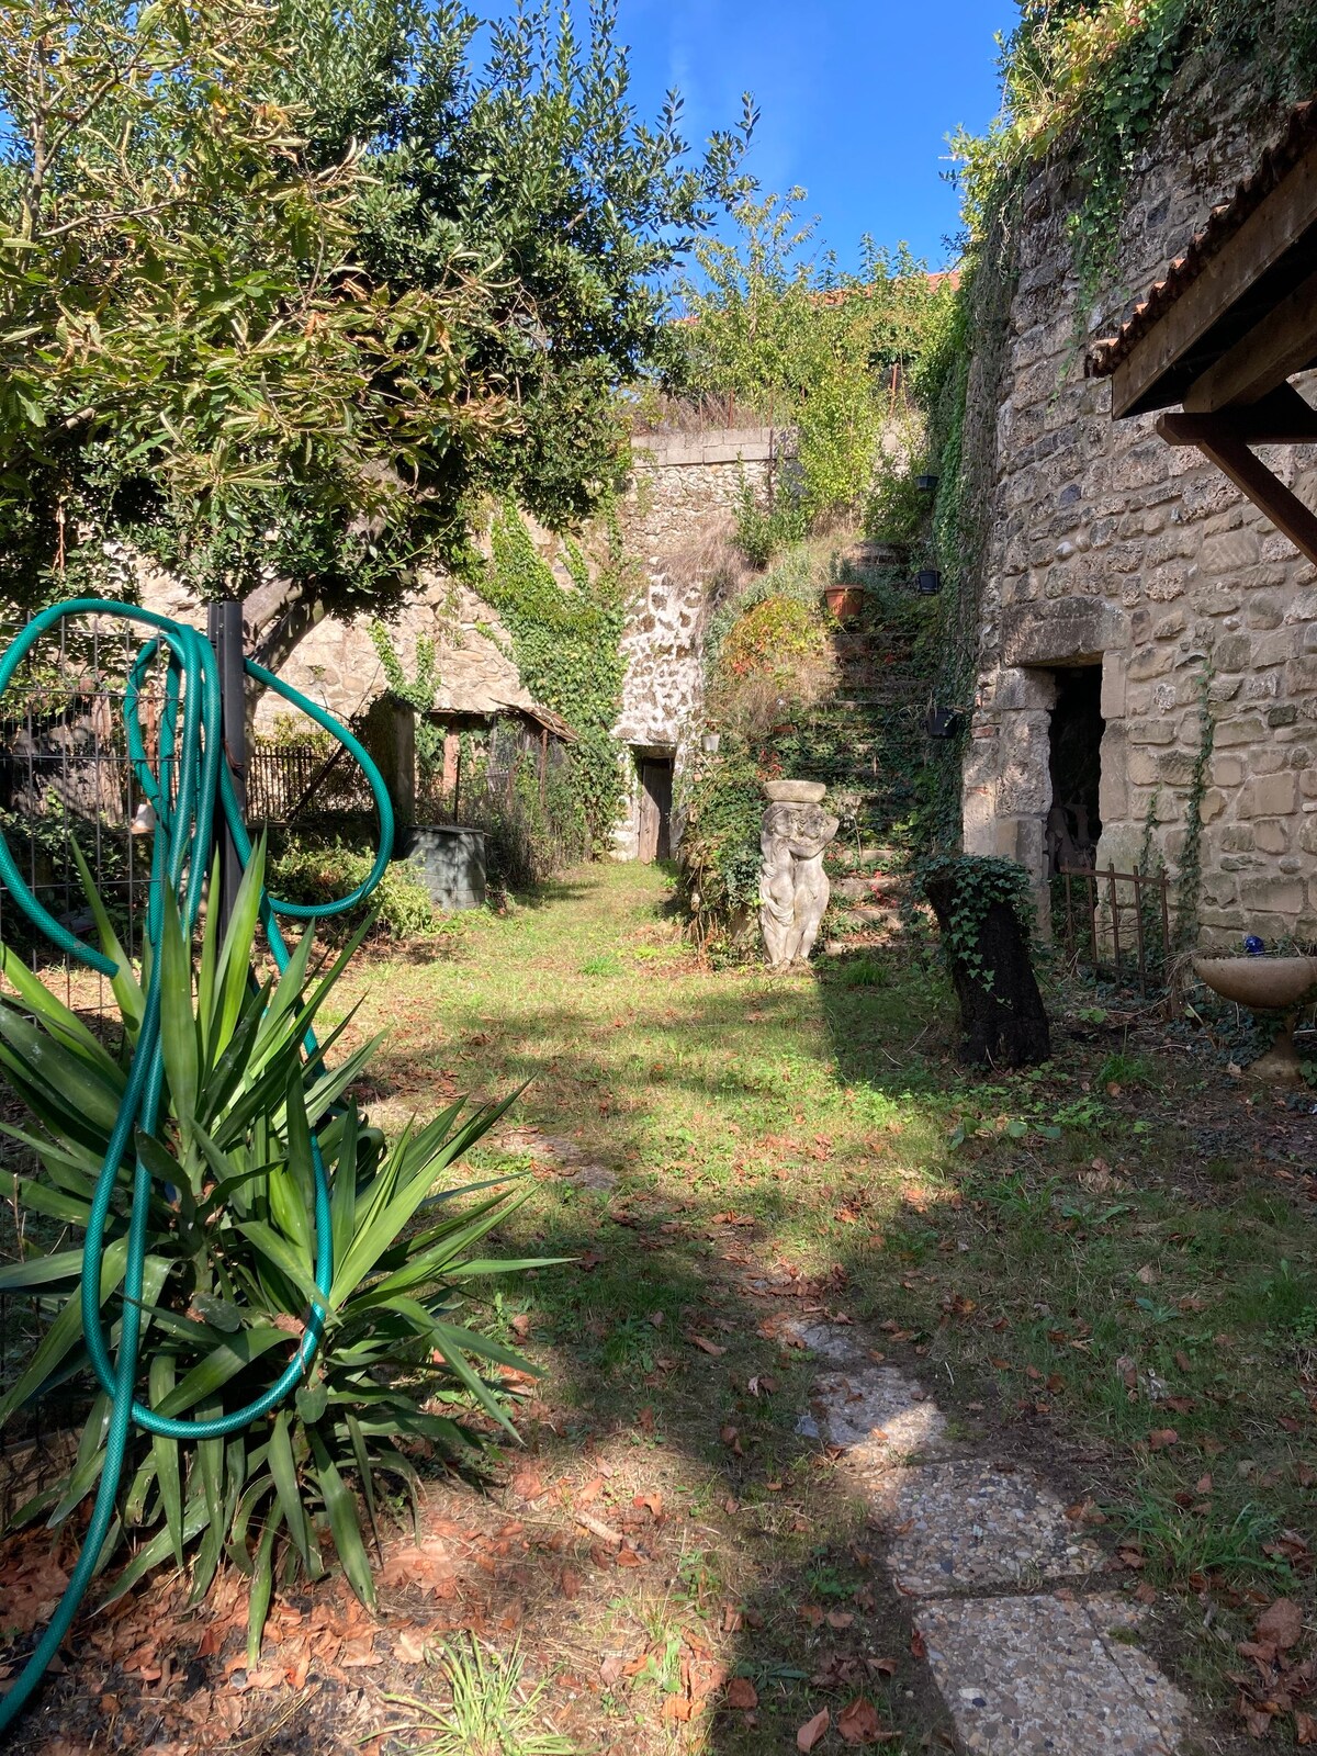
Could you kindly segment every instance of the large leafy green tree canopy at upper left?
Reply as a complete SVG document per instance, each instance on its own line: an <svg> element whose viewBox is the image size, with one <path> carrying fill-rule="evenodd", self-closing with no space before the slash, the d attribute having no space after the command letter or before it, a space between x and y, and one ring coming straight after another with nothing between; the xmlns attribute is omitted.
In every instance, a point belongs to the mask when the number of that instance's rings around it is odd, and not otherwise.
<svg viewBox="0 0 1317 1756"><path fill-rule="evenodd" d="M743 191L629 97L615 7L488 33L425 0L0 0L0 569L123 544L242 595L277 662L615 471L662 276Z"/></svg>

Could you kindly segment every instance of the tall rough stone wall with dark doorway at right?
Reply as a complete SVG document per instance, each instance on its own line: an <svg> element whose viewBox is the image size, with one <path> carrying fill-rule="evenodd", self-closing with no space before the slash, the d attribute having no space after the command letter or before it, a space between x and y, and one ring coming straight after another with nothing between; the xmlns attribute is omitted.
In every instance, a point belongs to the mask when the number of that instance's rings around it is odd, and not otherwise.
<svg viewBox="0 0 1317 1756"><path fill-rule="evenodd" d="M1090 314L1094 335L1113 332L1119 299L1166 270L1278 126L1226 112L1208 139L1157 142L1126 212L1120 291ZM1101 664L1098 864L1129 871L1150 825L1175 873L1206 676L1215 753L1201 808L1203 938L1317 938L1317 572L1201 453L1164 444L1152 416L1112 421L1110 386L1080 376L1066 197L1061 169L1040 176L1018 230L966 848L1022 860L1041 887L1052 671ZM1263 455L1301 499L1317 499L1312 453Z"/></svg>

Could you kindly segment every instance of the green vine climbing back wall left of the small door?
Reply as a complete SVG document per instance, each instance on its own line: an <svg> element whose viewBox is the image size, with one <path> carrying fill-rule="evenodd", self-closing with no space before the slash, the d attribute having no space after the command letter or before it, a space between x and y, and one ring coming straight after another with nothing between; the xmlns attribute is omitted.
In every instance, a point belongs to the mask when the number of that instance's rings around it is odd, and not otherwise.
<svg viewBox="0 0 1317 1756"><path fill-rule="evenodd" d="M604 852L625 797L613 727L627 671L620 641L630 567L616 516L604 520L602 553L594 565L571 539L562 558L565 583L536 548L516 507L504 506L493 520L481 595L507 630L525 687L576 732L571 788L594 848Z"/></svg>

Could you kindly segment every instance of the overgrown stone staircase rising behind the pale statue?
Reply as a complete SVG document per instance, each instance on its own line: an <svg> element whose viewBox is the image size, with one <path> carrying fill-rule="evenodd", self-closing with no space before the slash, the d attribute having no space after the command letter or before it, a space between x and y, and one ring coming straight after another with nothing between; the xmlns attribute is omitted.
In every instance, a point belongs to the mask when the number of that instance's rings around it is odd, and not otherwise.
<svg viewBox="0 0 1317 1756"><path fill-rule="evenodd" d="M931 687L918 636L936 615L936 601L869 594L860 616L832 636L836 692L792 739L790 771L825 781L841 815L825 862L832 901L824 943L878 941L901 918Z"/></svg>

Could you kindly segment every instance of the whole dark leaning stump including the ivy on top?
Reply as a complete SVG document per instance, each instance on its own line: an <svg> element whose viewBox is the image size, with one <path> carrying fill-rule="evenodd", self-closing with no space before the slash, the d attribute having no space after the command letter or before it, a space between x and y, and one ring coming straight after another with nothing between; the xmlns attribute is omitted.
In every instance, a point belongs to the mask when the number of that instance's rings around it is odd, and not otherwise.
<svg viewBox="0 0 1317 1756"><path fill-rule="evenodd" d="M1052 1031L1029 959L1029 878L1013 860L929 860L920 889L941 932L961 1004L961 1061L1033 1068L1052 1055Z"/></svg>

